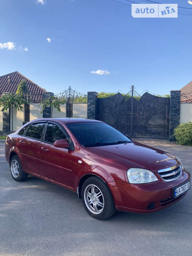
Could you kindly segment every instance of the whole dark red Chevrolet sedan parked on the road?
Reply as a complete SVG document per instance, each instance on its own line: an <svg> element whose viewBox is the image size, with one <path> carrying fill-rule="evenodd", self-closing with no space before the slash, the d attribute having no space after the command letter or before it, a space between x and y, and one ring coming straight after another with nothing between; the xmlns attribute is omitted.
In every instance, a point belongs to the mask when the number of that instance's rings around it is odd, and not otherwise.
<svg viewBox="0 0 192 256"><path fill-rule="evenodd" d="M116 210L163 209L190 188L190 174L178 157L96 120L33 120L7 136L5 156L14 180L32 174L68 188L100 220Z"/></svg>

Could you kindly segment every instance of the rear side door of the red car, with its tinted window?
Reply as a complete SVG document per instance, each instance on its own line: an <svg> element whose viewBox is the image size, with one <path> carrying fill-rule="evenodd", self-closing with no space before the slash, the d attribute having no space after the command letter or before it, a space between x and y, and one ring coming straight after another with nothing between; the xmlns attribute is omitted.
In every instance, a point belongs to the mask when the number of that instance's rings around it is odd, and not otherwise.
<svg viewBox="0 0 192 256"><path fill-rule="evenodd" d="M40 153L41 135L45 124L45 121L34 122L28 126L23 134L18 134L20 137L17 147L22 158L22 167L27 172L40 174L38 156Z"/></svg>

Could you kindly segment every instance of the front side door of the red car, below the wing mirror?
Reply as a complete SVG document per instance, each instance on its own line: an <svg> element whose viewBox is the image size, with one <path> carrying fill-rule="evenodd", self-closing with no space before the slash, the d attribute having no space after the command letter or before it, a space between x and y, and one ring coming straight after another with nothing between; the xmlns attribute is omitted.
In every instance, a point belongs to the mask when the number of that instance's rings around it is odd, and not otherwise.
<svg viewBox="0 0 192 256"><path fill-rule="evenodd" d="M69 140L72 143L62 125L57 122L48 122L43 141L40 142L39 171L44 178L72 188L74 150L54 147L53 143L56 140Z"/></svg>

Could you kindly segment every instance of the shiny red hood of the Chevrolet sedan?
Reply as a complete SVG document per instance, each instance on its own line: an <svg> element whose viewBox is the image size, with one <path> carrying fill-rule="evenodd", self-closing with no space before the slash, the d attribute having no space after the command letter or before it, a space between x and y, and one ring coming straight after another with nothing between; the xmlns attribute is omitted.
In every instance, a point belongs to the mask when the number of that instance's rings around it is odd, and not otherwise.
<svg viewBox="0 0 192 256"><path fill-rule="evenodd" d="M127 169L137 167L158 172L158 170L179 164L176 156L136 141L118 145L92 147L89 148L89 151L99 155L102 159L113 159L113 161L125 165Z"/></svg>

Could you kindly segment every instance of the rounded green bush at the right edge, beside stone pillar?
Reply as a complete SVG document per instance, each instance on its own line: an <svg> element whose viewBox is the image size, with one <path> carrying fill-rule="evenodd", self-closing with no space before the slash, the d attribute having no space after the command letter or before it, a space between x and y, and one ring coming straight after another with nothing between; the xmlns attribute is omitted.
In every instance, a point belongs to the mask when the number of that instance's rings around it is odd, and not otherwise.
<svg viewBox="0 0 192 256"><path fill-rule="evenodd" d="M179 124L174 129L173 136L180 145L191 145L192 144L192 122Z"/></svg>

